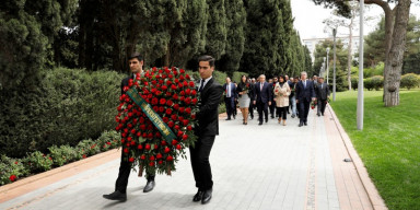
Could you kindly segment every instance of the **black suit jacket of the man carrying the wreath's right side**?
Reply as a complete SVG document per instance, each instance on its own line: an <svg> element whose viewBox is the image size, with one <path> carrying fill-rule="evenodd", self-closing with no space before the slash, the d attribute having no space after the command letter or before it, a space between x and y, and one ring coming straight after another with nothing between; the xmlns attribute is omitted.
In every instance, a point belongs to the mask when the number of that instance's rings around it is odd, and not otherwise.
<svg viewBox="0 0 420 210"><path fill-rule="evenodd" d="M200 93L198 126L195 133L199 137L219 135L219 102L224 89L214 78L210 79Z"/></svg>

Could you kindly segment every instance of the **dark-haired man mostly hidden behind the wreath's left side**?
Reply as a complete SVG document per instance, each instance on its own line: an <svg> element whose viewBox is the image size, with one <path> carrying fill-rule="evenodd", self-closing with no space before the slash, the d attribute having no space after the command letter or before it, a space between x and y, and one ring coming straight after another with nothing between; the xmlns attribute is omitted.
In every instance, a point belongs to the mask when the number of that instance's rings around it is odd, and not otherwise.
<svg viewBox="0 0 420 210"><path fill-rule="evenodd" d="M131 75L128 78L122 79L121 81L121 95L125 93L124 88L128 86L128 83L130 80L136 80L136 75L140 77L140 73L143 71L143 57L140 56L140 54L132 54L131 57L128 60L128 63L130 66ZM104 198L109 200L119 200L119 201L126 201L127 200L127 185L128 185L128 177L130 176L131 172L131 163L127 160L126 154L124 153L124 150L121 149L121 162L119 164L119 173L117 182L115 183L115 191L108 195L103 195ZM149 192L153 190L154 188L154 174L147 174L145 178L148 179L148 183L145 187L143 188L143 192Z"/></svg>

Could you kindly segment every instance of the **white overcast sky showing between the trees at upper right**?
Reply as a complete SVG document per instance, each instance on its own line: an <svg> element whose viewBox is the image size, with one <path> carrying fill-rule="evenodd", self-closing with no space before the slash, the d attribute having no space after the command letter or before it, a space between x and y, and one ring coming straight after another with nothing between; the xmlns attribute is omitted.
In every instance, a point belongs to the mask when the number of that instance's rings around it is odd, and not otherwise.
<svg viewBox="0 0 420 210"><path fill-rule="evenodd" d="M315 5L312 0L291 0L291 3L294 16L294 27L301 34L302 39L330 36L324 33L325 24L323 24L323 21L332 16L332 10L325 9L323 5ZM412 3L410 13L420 19L420 7ZM382 8L376 4L370 5L369 10L364 12L365 16L369 15L374 18L373 21L370 21L369 24L364 25L364 35L375 28L377 22L381 20L381 14L384 14L384 12ZM359 19L357 20L357 24L359 24ZM348 30L343 27L338 28L337 31L337 36L348 35L349 33ZM329 32L329 34L331 33ZM355 32L354 35L359 35L359 31Z"/></svg>

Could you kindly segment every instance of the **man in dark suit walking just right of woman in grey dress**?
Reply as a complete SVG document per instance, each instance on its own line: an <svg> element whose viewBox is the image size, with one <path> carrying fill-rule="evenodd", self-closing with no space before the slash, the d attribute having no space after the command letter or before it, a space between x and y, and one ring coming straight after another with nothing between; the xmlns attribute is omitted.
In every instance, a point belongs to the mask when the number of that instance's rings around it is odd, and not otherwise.
<svg viewBox="0 0 420 210"><path fill-rule="evenodd" d="M258 79L259 82L255 84L254 105L257 105L259 120L258 125L260 126L264 121L262 112L266 117L266 122L268 121L268 106L271 105L270 98L272 88L268 82L266 82L266 75L261 74Z"/></svg>

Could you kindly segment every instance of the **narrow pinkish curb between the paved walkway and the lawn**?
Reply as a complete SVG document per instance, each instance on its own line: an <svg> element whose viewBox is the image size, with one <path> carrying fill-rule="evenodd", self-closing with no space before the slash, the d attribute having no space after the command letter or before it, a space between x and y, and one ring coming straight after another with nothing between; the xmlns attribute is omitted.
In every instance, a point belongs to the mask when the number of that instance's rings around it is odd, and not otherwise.
<svg viewBox="0 0 420 210"><path fill-rule="evenodd" d="M346 130L342 128L340 120L338 119L336 113L332 110L331 106L328 106L329 112L331 113L331 116L334 118L334 121L336 124L336 127L338 131L340 132L342 142L345 143L345 147L350 155L350 159L352 160L352 163L355 167L355 171L358 172L358 175L360 179L362 180L362 185L364 189L368 192L369 200L371 201L373 209L377 210L387 210L384 200L382 199L380 192L377 191L375 185L373 184L372 179L370 178L368 174L368 170L364 166L362 160L360 159L358 152L355 151L353 143L350 140L350 137L347 135Z"/></svg>

